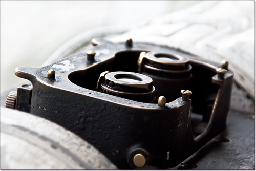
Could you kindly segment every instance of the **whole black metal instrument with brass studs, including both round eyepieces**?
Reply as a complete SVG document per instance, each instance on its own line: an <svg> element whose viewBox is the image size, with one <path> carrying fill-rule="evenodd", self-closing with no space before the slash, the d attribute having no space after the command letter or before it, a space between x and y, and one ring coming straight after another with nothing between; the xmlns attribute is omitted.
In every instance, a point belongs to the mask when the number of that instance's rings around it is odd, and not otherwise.
<svg viewBox="0 0 256 171"><path fill-rule="evenodd" d="M233 83L227 62L209 62L132 39L114 44L97 38L92 44L90 53L81 51L41 68L16 68L15 74L33 85L31 114L77 134L120 169L147 163L175 167L225 130ZM151 82L146 82L147 90L154 88L158 101L141 102L101 91L114 92L106 82L114 72L151 77L153 85L148 88ZM142 89L127 84L121 88L115 91ZM199 124L207 122L201 132L195 132L198 125L191 112L203 115Z"/></svg>

